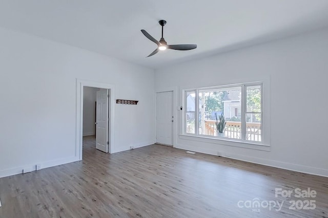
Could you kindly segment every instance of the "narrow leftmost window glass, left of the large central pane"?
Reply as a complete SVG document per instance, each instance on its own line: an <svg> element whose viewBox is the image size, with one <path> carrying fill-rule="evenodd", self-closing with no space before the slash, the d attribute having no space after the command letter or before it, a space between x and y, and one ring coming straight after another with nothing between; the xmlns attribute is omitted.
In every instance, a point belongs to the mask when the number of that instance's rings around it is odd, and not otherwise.
<svg viewBox="0 0 328 218"><path fill-rule="evenodd" d="M186 133L195 134L195 91L186 92Z"/></svg>

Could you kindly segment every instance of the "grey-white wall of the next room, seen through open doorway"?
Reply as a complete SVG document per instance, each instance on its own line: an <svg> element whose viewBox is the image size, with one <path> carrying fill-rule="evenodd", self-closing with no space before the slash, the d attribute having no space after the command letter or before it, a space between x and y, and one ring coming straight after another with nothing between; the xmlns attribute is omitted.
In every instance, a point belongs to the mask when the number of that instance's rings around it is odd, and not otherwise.
<svg viewBox="0 0 328 218"><path fill-rule="evenodd" d="M83 136L96 134L96 100L98 88L84 86L83 88Z"/></svg>

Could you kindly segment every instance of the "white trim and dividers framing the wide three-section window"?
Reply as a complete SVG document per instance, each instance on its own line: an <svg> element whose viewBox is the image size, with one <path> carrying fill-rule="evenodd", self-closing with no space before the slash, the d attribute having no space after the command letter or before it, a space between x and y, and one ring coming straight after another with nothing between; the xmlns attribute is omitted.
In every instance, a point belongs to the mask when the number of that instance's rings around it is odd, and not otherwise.
<svg viewBox="0 0 328 218"><path fill-rule="evenodd" d="M247 141L244 139L245 137L245 115L247 112L246 104L243 102L245 101L246 97L246 86L253 86L253 85L261 85L261 128L262 128L262 135L261 135L261 142L256 141ZM241 94L244 95L243 98L241 98L241 117L244 119L241 119L241 125L244 127L241 127L241 140L238 139L229 139L229 138L222 138L218 136L206 136L206 135L198 135L198 129L196 127L196 124L198 123L198 111L199 108L197 108L197 99L198 99L198 90L203 89L224 89L224 88L230 88L232 86L243 86L241 88ZM215 144L223 144L223 145L229 145L229 146L237 146L237 147L245 147L250 149L258 149L258 150L267 150L270 151L270 79L263 79L260 81L255 82L244 82L244 83L234 83L234 84L223 84L223 85L216 85L216 86L207 86L207 87L199 87L199 88L190 88L190 87L180 87L180 96L183 96L180 102L181 106L185 106L187 102L186 101L186 92L188 91L195 91L195 134L188 134L186 133L186 121L185 121L185 114L186 110L183 108L182 113L182 119L180 119L181 127L179 128L179 138L180 139L187 139L187 140L194 140L194 141L200 141L200 142L208 142L208 143L215 143ZM197 97L197 99L196 99ZM264 111L264 114L263 114ZM197 122L196 122L197 120ZM196 130L197 129L197 130Z"/></svg>

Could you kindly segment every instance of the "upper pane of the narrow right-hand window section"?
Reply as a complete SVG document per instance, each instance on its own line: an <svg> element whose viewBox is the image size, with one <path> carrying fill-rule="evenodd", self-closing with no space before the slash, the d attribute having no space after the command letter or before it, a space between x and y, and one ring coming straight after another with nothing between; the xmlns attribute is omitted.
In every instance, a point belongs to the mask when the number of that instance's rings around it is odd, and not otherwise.
<svg viewBox="0 0 328 218"><path fill-rule="evenodd" d="M247 86L247 112L261 112L261 86Z"/></svg>

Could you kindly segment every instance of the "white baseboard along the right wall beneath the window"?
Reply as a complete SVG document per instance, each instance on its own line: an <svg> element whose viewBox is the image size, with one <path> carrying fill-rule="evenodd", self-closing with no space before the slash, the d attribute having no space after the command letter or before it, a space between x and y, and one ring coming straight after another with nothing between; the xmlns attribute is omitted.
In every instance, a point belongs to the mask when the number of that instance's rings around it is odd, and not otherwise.
<svg viewBox="0 0 328 218"><path fill-rule="evenodd" d="M181 144L177 144L177 146L175 146L175 147L183 149L183 150L192 150L192 151L200 152L203 154L217 156L217 151L215 152L213 150L199 151L199 150L195 149L193 146L181 145ZM303 172L303 173L308 173L311 175L316 175L316 176L321 176L321 177L328 177L328 170L323 169L323 168L316 168L316 167L311 167L311 166L305 166L305 165L299 165L299 164L293 164L293 163L275 161L275 160L268 160L268 159L256 158L256 157L245 156L245 155L237 155L237 154L232 154L232 153L227 153L227 152L224 152L221 155L221 157L240 160L240 161L246 161L246 162L250 162L250 163L256 163L256 164L260 164L260 165L271 166L271 167L276 167L276 168L281 168L281 169L287 169L287 170L292 170L292 171L296 171L296 172Z"/></svg>

